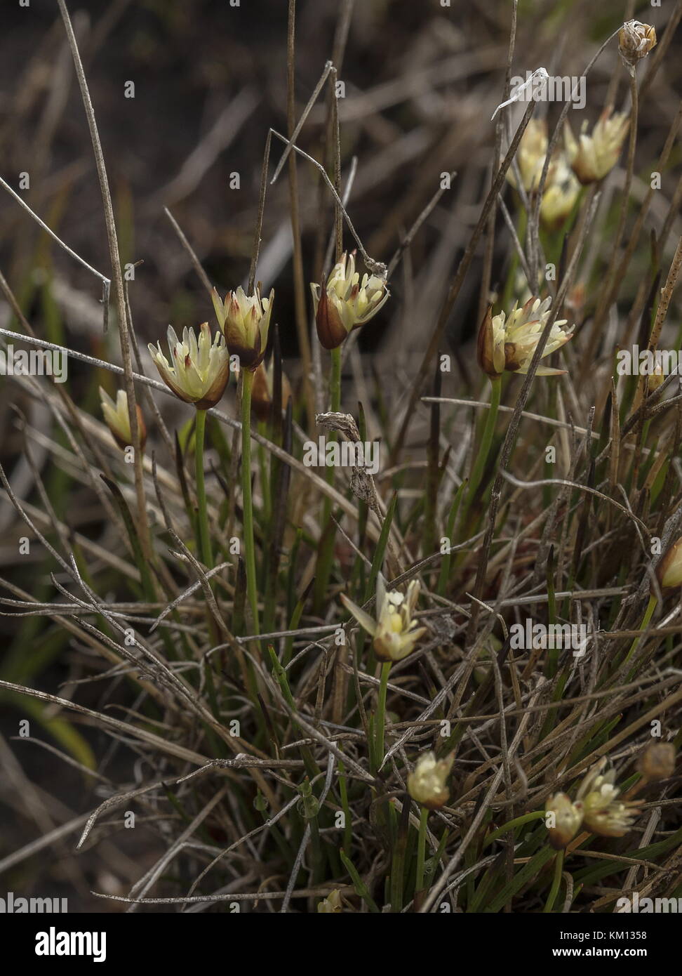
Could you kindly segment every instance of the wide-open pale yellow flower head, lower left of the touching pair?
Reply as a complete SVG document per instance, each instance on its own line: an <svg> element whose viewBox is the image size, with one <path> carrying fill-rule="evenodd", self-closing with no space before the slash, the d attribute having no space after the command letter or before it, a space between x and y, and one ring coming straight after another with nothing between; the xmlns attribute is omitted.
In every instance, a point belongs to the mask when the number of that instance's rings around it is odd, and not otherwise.
<svg viewBox="0 0 682 976"><path fill-rule="evenodd" d="M175 329L168 327L170 362L161 351L161 344L149 344L149 352L159 376L185 403L193 403L197 410L209 410L221 399L229 379L229 357L220 332L211 340L209 323L199 326L199 339L194 330L182 330L182 340Z"/></svg>

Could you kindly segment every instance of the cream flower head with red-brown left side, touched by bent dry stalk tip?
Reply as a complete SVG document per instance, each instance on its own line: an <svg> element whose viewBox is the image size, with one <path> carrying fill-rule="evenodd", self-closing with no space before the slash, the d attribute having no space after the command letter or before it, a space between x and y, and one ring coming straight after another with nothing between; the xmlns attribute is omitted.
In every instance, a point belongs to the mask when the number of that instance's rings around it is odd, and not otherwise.
<svg viewBox="0 0 682 976"><path fill-rule="evenodd" d="M388 289L378 274L360 275L355 252L343 253L327 278L327 284L310 285L315 306L317 336L326 349L336 349L346 336L373 318L388 299Z"/></svg>

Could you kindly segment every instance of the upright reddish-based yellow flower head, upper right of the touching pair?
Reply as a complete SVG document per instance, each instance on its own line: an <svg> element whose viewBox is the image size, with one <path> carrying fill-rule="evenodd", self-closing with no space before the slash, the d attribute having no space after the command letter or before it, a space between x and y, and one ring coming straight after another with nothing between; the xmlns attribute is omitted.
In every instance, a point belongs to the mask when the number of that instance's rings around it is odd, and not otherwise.
<svg viewBox="0 0 682 976"><path fill-rule="evenodd" d="M247 295L241 285L235 292L227 292L224 301L215 288L211 294L229 354L239 356L241 365L252 373L265 356L274 294L272 289L263 299L257 287L253 295Z"/></svg>

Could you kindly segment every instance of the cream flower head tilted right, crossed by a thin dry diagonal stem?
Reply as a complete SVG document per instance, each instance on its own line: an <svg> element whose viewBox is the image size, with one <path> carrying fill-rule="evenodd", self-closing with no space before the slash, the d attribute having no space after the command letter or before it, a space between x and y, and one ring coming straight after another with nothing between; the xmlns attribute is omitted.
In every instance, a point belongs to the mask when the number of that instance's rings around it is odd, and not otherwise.
<svg viewBox="0 0 682 976"><path fill-rule="evenodd" d="M542 330L549 318L551 298L541 302L529 299L520 308L517 305L507 318L503 311L493 315L488 310L478 331L477 352L481 369L490 377L501 376L504 370L511 373L527 373L533 354L538 346ZM565 330L566 319L554 322L547 336L542 358L560 349L573 336L573 330ZM539 366L538 376L559 376L565 370Z"/></svg>

